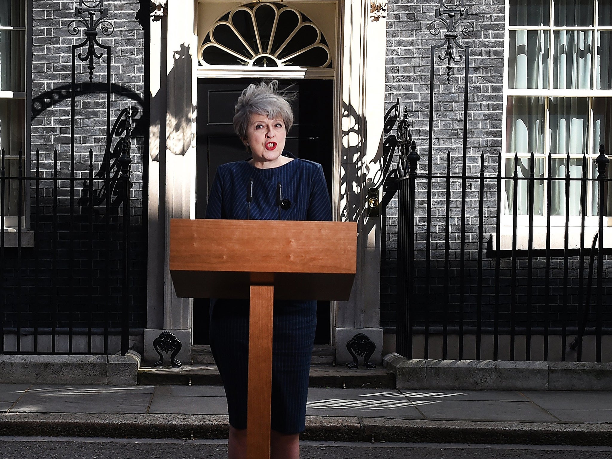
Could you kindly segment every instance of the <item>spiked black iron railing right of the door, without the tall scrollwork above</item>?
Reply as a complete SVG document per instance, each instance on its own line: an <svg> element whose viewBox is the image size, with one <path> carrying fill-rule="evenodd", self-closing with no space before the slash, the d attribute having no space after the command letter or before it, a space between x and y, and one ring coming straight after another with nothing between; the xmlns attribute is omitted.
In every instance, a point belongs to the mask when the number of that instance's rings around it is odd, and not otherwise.
<svg viewBox="0 0 612 459"><path fill-rule="evenodd" d="M612 241L606 242L604 236L610 199L605 190L612 186L612 178L607 174L610 160L604 147L595 159L595 177L588 177L586 154L581 177L570 177L569 168L564 177L553 177L550 155L547 176L535 177L534 154L528 157L527 176L519 176L516 154L513 169L504 174L501 153L497 167L487 168L485 152L480 155L478 174L452 174L450 151L446 174L434 174L419 173L417 147L402 117L397 137L398 169L387 181L388 190L396 187L398 191L397 352L415 357L414 337L419 334L423 348L418 357L428 358L430 335L437 334L441 353L436 349L435 354L443 359L449 355L481 359L483 354L499 359L503 354L510 360L548 360L554 354L561 360L583 360L584 337L592 335L591 358L600 362L603 337L612 334L612 285L605 275L612 267L606 257L612 253L606 251ZM580 215L572 225L570 218L562 217L563 226L552 226L550 210L546 225L535 225L535 217L544 217L534 212L538 182L547 187L544 209L551 209L553 184L564 187L564 215L570 214L570 184L580 184ZM526 225L519 224L517 208L521 183L528 189ZM589 189L594 196L593 215L588 215ZM432 190L443 196L433 205ZM485 200L491 191L496 192L494 215L490 196ZM504 210L503 201L509 195L513 204ZM437 215L435 221L432 214ZM467 214L472 215L469 221ZM505 242L504 231L511 234ZM519 244L521 231L526 244ZM544 236L545 242L536 235ZM472 349L464 348L468 335L474 338ZM560 338L560 347L554 350L549 348L553 335ZM454 344L449 343L450 337L455 338ZM541 342L542 348L535 349L535 342ZM492 350L485 349L491 344ZM517 349L524 353L517 354ZM612 352L603 350L606 355ZM576 354L569 356L570 352Z"/></svg>

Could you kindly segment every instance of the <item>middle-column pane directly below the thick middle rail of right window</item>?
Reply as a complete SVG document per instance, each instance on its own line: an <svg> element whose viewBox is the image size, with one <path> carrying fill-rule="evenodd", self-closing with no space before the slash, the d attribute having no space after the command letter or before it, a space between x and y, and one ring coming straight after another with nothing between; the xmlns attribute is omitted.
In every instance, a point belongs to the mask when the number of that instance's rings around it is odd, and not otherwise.
<svg viewBox="0 0 612 459"><path fill-rule="evenodd" d="M587 152L589 100L553 97L550 103L550 151L583 155Z"/></svg>

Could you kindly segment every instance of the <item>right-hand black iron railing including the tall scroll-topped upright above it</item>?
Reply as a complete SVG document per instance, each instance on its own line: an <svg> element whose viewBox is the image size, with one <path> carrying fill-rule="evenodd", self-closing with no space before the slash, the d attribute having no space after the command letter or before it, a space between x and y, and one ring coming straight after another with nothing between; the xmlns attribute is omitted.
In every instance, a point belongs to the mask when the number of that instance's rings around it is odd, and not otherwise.
<svg viewBox="0 0 612 459"><path fill-rule="evenodd" d="M605 241L612 179L604 147L599 156L581 156L581 177L570 176L570 159L580 162L574 154L555 155L565 160L561 176L553 176L551 154L537 155L542 165L548 163L547 176L535 173L533 153L512 152L502 163L501 149L476 147L474 157L475 145L468 146L470 47L460 40L474 32L468 7L463 0L440 0L428 29L441 41L429 53L426 160L420 162L401 100L384 124L387 164L398 152L383 196L383 203L398 196L397 352L419 358L583 360L585 338L592 337L588 359L600 362L603 337L612 335L612 285L606 277L612 263L606 247L612 244ZM453 89L457 94L450 100L460 106L449 116L439 107L449 100L441 94ZM393 125L397 135L390 133ZM588 174L589 168L595 174ZM555 201L554 216L553 186L565 192L564 200ZM536 198L536 187L545 189L545 196ZM521 188L526 193L520 209ZM580 203L571 217L570 188ZM608 346L606 358L612 353Z"/></svg>

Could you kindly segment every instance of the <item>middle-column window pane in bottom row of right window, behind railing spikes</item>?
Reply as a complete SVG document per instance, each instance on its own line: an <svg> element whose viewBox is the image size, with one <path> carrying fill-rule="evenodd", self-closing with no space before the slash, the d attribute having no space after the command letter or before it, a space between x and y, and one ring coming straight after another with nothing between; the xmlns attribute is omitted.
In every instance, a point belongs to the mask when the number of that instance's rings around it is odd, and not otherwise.
<svg viewBox="0 0 612 459"><path fill-rule="evenodd" d="M553 181L551 184L550 214L565 215L565 177L567 174L567 158L554 158L551 174ZM571 178L580 179L582 177L582 160L578 158L570 159L569 174ZM554 180L561 179L561 180ZM570 194L570 215L580 215L581 203L581 183L579 181L569 181ZM586 188L586 187L585 187ZM584 190L586 192L586 190Z"/></svg>

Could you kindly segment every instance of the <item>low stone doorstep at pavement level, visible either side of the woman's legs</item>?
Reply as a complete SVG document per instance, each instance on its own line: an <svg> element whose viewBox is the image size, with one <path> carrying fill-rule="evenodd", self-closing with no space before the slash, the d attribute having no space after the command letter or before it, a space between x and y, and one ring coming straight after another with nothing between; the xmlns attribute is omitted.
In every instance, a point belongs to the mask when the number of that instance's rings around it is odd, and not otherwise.
<svg viewBox="0 0 612 459"><path fill-rule="evenodd" d="M138 369L138 384L206 386L220 385L221 377L214 364L183 365L171 367L141 367ZM371 387L376 389L395 389L393 371L378 365L376 368L353 368L345 365L312 365L310 367L310 387L345 387L354 389Z"/></svg>

